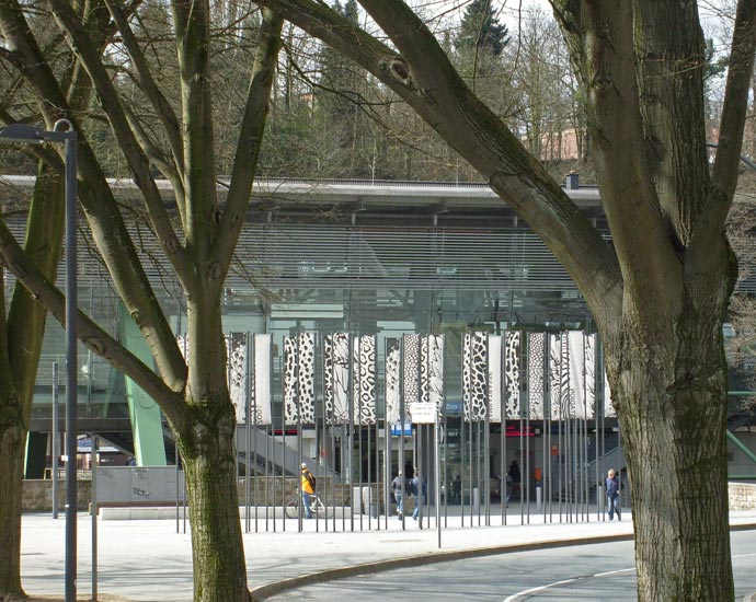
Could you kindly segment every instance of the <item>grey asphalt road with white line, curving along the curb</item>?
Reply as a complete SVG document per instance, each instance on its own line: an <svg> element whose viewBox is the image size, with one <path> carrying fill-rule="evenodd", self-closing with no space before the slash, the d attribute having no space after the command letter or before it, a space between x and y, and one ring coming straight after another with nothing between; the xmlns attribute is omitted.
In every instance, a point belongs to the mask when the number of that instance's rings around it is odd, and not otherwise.
<svg viewBox="0 0 756 602"><path fill-rule="evenodd" d="M736 600L756 592L756 533L732 533ZM268 600L634 601L632 542L503 554L330 581Z"/></svg>

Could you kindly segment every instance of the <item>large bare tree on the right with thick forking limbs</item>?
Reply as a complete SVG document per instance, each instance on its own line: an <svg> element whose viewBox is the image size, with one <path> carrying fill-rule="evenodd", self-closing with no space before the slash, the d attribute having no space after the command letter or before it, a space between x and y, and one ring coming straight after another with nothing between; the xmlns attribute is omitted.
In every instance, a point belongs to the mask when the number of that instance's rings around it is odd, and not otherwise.
<svg viewBox="0 0 756 602"><path fill-rule="evenodd" d="M756 2L738 2L710 172L697 3L552 0L586 90L610 244L466 85L404 2L360 2L392 46L320 3L262 3L390 86L562 262L606 350L627 442L639 599L733 599L722 322L737 268L724 221L737 181Z"/></svg>

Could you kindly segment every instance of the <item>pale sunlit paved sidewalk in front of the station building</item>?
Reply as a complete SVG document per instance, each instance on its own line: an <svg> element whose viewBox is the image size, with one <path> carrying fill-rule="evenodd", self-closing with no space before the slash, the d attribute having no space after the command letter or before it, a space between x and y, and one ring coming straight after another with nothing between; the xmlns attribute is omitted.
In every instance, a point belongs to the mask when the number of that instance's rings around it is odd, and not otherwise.
<svg viewBox="0 0 756 602"><path fill-rule="evenodd" d="M459 517L449 517L448 526L442 531L440 547L435 517L432 528L420 530L412 519L406 530L396 517L388 520L389 529L358 531L359 518L352 522L332 521L324 532L323 521L305 521L301 533L297 521L277 522L277 532L244 534L248 579L255 598L271 595L286 586L300 584L302 580L314 582L337 576L355 575L391 566L435 562L502 552L505 546L564 545L585 540L600 540L632 535L629 513L622 522L543 523L542 516L530 516L530 524L520 524L520 514L509 516L507 525L478 526L478 518L469 526L460 528ZM554 517L554 520L557 517ZM548 519L547 519L548 520ZM367 529L367 517L363 526ZM442 517L442 523L444 518ZM497 523L500 517L492 517ZM756 512L732 512L731 525L756 529ZM271 524L268 526L272 528ZM342 526L346 531L341 531ZM176 533L174 520L98 521L98 590L101 599L125 599L139 602L191 601L192 555L188 533L180 522ZM254 524L252 525L254 529ZM259 522L259 529L264 529ZM316 532L316 528L320 532ZM54 520L50 514L25 514L22 534L22 576L26 592L32 597L62 597L65 586L65 520ZM188 526L187 526L188 529ZM91 588L91 518L79 516L79 575L80 598L89 599ZM366 566L367 565L367 566ZM303 579L302 579L303 578Z"/></svg>

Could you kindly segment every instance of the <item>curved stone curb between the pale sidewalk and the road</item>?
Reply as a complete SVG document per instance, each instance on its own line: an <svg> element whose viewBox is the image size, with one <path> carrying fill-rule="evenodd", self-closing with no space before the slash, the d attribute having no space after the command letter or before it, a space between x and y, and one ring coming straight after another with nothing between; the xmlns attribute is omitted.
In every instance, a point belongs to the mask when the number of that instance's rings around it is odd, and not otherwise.
<svg viewBox="0 0 756 602"><path fill-rule="evenodd" d="M748 530L756 530L756 523L735 524L730 526L730 531ZM478 556L495 556L497 554L531 552L534 549L551 549L554 547L572 547L596 543L627 542L633 539L634 535L629 533L627 535L598 535L594 537L581 537L577 540L547 540L527 544L497 545L490 547L455 549L449 552L428 552L422 556L404 556L401 558L391 558L389 560L377 560L375 563L364 563L360 565L329 568L319 570L317 572L300 575L299 577L291 577L290 579L284 579L282 581L274 581L272 583L266 583L264 586L251 589L250 600L252 600L252 602L262 602L272 595L277 595L285 591L299 589L306 586L323 583L325 581L334 581L336 579L345 579L347 577L357 577L359 575L369 575L383 570L432 565L465 558L476 558ZM756 592L746 595L743 602L756 602Z"/></svg>

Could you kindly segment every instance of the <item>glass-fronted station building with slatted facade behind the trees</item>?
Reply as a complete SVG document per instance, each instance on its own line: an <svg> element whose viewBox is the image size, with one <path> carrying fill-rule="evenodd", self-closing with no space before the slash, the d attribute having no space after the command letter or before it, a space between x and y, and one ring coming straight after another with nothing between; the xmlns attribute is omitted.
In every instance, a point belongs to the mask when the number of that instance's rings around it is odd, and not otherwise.
<svg viewBox="0 0 756 602"><path fill-rule="evenodd" d="M33 182L8 180L20 187ZM575 177L568 184L570 197L608 236L598 190L579 186ZM124 200L137 195L127 182L114 183L114 189ZM170 200L168 184L162 190ZM565 270L528 224L484 184L260 181L247 219L226 283L224 326L229 333L272 335L274 437L284 429L284 338L297 333L314 333L318 339L332 333L376 335L379 405L385 393L386 340L405 333L444 335L444 398L447 414L454 417L462 398L463 333L595 332L591 313ZM10 223L16 232L23 230L21 218ZM161 251L147 228L138 223L130 228L156 292L181 334L180 287L161 263ZM82 239L80 309L149 361L104 266L88 246ZM5 286L12 286L12 280ZM756 292L756 282L743 286ZM56 362L62 373L64 329L48 319L31 424L26 472L31 478L42 477L49 466ZM83 347L79 362L80 432L98 433L123 452L113 454L114 463L126 462L130 455L145 465L173 463L168 429L151 400ZM316 391L322 394L320 386ZM616 426L611 418L600 424L607 432L616 431ZM494 435L500 428L491 425ZM595 431L599 425L592 428ZM509 458L522 456L524 436L536 441L543 435L539 429L524 432L522 424L506 424L505 429ZM459 436L453 424L447 432L450 442ZM303 432L302 437L309 440L307 454L319 458L317 435ZM374 444L374 450L381 445L378 440ZM541 443L532 447L540 449ZM539 464L538 452L532 461ZM340 462L333 462L339 472ZM454 463L454 458L448 462ZM448 466L447 472L456 470ZM501 471L492 466L490 473Z"/></svg>

